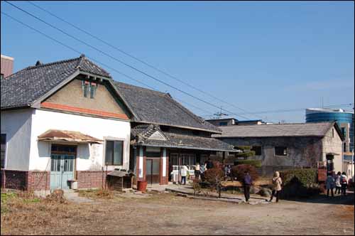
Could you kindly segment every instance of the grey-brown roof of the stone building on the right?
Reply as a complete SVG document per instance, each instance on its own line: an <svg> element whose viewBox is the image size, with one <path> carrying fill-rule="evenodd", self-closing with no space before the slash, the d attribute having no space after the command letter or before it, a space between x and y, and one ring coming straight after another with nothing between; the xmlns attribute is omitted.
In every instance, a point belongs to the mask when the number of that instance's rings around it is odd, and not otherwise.
<svg viewBox="0 0 355 236"><path fill-rule="evenodd" d="M324 136L334 126L334 122L302 123L302 124L254 124L231 125L220 127L222 134L214 134L216 138L247 138L272 136Z"/></svg>

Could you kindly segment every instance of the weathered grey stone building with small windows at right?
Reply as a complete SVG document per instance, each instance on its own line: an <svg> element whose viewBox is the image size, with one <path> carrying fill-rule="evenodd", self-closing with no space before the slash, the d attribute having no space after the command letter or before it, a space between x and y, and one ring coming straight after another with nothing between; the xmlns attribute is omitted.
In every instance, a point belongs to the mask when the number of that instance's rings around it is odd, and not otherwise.
<svg viewBox="0 0 355 236"><path fill-rule="evenodd" d="M329 171L342 170L344 137L336 122L307 124L262 124L219 127L217 139L234 146L252 146L261 160L262 173L287 168L317 168L326 165Z"/></svg>

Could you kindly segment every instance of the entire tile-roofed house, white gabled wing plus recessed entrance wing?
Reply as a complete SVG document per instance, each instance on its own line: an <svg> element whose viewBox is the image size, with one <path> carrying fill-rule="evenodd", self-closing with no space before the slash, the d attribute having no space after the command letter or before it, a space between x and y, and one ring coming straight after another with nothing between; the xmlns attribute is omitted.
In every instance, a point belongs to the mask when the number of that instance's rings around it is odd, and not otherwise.
<svg viewBox="0 0 355 236"><path fill-rule="evenodd" d="M84 55L1 79L4 188L102 188L116 168L165 185L182 164L236 151L212 137L221 133L168 93L114 81Z"/></svg>

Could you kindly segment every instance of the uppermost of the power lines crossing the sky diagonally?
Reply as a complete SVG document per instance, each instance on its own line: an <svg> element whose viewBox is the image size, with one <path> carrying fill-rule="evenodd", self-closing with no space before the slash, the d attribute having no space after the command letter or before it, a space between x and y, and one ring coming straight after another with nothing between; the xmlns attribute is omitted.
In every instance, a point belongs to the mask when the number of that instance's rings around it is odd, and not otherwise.
<svg viewBox="0 0 355 236"><path fill-rule="evenodd" d="M105 45L108 45L109 47L111 48L114 48L115 50L118 50L120 53L123 53L124 55L127 55L129 56L130 58L133 58L134 60L137 60L138 62L140 63L143 63L144 65L148 66L149 68L152 68L153 70L156 70L158 71L159 73L162 73L163 75L166 75L170 78L172 78L173 80L177 80L178 82L181 82L182 84L184 85L187 85L189 87L192 87L194 90L197 90L198 92L201 92L202 94L204 95L207 95L209 97L212 97L214 98L215 100L219 100L219 102L223 102L224 104L229 104L231 107L235 107L237 109L240 109L241 111L245 112L244 114L253 114L254 116L256 117L259 117L256 115L256 113L251 113L251 112L248 112L246 109L243 109L241 107L237 107L235 104L232 104L230 102L226 102L222 99L220 99L219 97L216 97L212 94L210 94L209 92L206 92L206 91L203 91L201 90L200 88L198 87L195 87L194 85L190 85L189 83L183 81L183 80L180 80L178 77L175 77L174 75L171 75L170 73L167 73L166 71L164 70L161 70L157 67L155 67L154 65L151 65L150 63L147 63L146 61L140 59L140 58L137 58L136 56L134 55L131 55L130 53L127 53L126 51L122 50L121 48L117 48L115 45L112 45L111 43L108 43L107 41L104 41L102 38L99 38L97 36L94 36L92 33L89 33L88 31L85 31L84 29L80 28L79 26L75 26L75 24L73 23L70 23L69 21L66 21L64 18L61 18L60 16L57 16L55 14L53 14L52 12L48 11L47 9L44 9L43 7L41 6L38 6L37 4L34 4L32 1L28 1L29 4L32 4L33 6L37 7L38 9L42 10L42 11L45 11L47 14L50 14L50 16L53 16L55 18L58 18L60 21L62 22L65 22L67 24L69 24L70 26L72 26L73 28L76 28L78 31L81 31L82 33L85 33L87 34L88 36L91 36L92 38L95 38L97 41L100 41L102 43L104 43ZM262 118L263 117L259 117L259 118Z"/></svg>

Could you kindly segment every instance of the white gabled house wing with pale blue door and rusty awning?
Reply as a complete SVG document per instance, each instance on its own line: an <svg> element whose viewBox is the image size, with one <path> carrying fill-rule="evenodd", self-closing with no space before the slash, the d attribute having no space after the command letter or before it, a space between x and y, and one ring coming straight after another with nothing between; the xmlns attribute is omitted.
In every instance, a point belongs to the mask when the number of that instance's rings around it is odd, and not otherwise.
<svg viewBox="0 0 355 236"><path fill-rule="evenodd" d="M1 80L1 184L100 188L129 168L132 113L111 76L84 55Z"/></svg>

